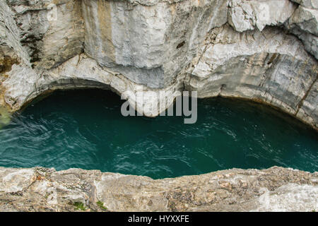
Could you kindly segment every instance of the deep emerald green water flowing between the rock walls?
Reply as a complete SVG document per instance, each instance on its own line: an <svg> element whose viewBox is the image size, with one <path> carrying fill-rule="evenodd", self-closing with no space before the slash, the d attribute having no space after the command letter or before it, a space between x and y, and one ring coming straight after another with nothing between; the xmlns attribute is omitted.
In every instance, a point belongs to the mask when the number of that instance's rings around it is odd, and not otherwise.
<svg viewBox="0 0 318 226"><path fill-rule="evenodd" d="M317 132L269 107L198 100L183 117L122 117L106 90L58 91L0 130L0 166L100 169L154 179L232 167L318 169Z"/></svg>

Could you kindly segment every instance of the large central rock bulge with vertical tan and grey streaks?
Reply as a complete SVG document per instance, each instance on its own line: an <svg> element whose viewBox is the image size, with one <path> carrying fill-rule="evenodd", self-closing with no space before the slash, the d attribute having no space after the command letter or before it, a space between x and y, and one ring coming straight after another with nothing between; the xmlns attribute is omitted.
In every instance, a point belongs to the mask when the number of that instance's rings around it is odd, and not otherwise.
<svg viewBox="0 0 318 226"><path fill-rule="evenodd" d="M151 88L170 85L208 30L227 21L227 1L83 1L85 52L102 66Z"/></svg>

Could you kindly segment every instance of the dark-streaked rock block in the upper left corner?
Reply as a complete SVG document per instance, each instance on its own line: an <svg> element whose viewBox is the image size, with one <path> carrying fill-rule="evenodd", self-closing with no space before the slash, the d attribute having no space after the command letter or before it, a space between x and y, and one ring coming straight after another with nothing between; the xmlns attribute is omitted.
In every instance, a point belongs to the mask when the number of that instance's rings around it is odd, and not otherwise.
<svg viewBox="0 0 318 226"><path fill-rule="evenodd" d="M27 64L50 69L83 52L85 31L78 0L7 0L1 1L0 10L9 28L8 45Z"/></svg>

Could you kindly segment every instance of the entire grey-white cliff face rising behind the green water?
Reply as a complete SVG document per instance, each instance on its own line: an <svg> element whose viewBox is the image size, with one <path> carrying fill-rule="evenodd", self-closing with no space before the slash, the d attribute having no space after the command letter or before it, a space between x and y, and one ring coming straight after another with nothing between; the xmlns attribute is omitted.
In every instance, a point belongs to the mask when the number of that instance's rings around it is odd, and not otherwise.
<svg viewBox="0 0 318 226"><path fill-rule="evenodd" d="M159 100L171 105L179 91L197 90L266 102L317 129L317 7L317 0L1 1L0 103L16 111L47 90L97 86L154 117Z"/></svg>

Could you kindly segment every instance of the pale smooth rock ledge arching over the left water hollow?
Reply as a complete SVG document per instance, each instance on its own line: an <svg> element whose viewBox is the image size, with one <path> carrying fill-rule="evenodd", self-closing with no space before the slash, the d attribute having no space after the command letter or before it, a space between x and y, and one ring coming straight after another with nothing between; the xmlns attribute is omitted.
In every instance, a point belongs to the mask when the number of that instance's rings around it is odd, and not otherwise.
<svg viewBox="0 0 318 226"><path fill-rule="evenodd" d="M137 103L140 112L148 117L155 117L158 111L153 105L158 105L160 91L166 91L163 98L172 104L178 90L183 88L181 78L167 88L152 90L146 85L140 85L111 69L103 68L95 60L85 54L73 57L61 66L39 73L29 67L13 65L8 72L8 78L3 83L6 88L4 99L13 110L33 100L38 95L57 89L72 88L102 88L111 89L129 99L131 104L143 95L144 102ZM154 111L155 110L155 111Z"/></svg>

